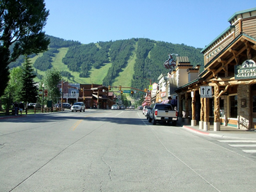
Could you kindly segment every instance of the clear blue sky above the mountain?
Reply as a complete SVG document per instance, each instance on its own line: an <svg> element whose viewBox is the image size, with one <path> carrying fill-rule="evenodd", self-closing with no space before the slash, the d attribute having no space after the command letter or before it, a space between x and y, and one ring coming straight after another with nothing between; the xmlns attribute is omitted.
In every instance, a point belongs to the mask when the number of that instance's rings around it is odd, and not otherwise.
<svg viewBox="0 0 256 192"><path fill-rule="evenodd" d="M47 35L82 44L150 38L203 48L255 0L45 0Z"/></svg>

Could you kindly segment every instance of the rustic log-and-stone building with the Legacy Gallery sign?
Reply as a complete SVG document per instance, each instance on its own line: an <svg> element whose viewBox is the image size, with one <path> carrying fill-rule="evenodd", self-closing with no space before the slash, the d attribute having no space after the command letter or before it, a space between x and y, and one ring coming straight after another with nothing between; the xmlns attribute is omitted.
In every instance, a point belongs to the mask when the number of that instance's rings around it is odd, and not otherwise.
<svg viewBox="0 0 256 192"><path fill-rule="evenodd" d="M214 131L220 131L220 124L256 128L256 8L236 12L228 22L202 49L204 71L198 79L176 90L180 98L191 99L191 124L200 116L201 129L209 129L211 121Z"/></svg>

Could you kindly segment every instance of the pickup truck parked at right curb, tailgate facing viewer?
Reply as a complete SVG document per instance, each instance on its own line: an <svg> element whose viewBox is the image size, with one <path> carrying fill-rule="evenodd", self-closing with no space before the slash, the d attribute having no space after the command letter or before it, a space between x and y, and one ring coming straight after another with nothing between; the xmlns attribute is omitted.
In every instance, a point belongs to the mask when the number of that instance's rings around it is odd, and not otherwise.
<svg viewBox="0 0 256 192"><path fill-rule="evenodd" d="M171 104L152 104L151 108L148 112L148 122L153 122L153 125L156 125L157 121L172 122L172 125L176 125L178 111Z"/></svg>

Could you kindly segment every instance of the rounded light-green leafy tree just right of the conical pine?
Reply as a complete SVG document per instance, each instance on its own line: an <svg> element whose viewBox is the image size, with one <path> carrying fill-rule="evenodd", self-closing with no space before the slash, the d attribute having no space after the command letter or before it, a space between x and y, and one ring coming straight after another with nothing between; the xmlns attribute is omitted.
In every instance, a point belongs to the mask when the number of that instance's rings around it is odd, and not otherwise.
<svg viewBox="0 0 256 192"><path fill-rule="evenodd" d="M61 78L61 72L56 68L50 68L45 71L42 79L44 88L48 90L48 96L45 99L52 100L53 103L58 102L61 96L58 88Z"/></svg>

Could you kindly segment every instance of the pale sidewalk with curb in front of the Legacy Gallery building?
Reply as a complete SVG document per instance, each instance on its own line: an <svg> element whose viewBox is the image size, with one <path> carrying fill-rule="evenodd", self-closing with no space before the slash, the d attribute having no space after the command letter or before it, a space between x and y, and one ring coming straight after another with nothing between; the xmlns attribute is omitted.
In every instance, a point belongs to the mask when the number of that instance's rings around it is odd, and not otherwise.
<svg viewBox="0 0 256 192"><path fill-rule="evenodd" d="M188 131L195 132L197 134L202 134L205 136L256 140L256 129L244 130L237 129L236 127L220 125L220 131L213 131L213 125L210 125L210 130L204 131L204 129L199 129L199 125L191 126L189 124L185 124L184 122L177 122L177 124L179 124L180 126L182 126L182 128Z"/></svg>

